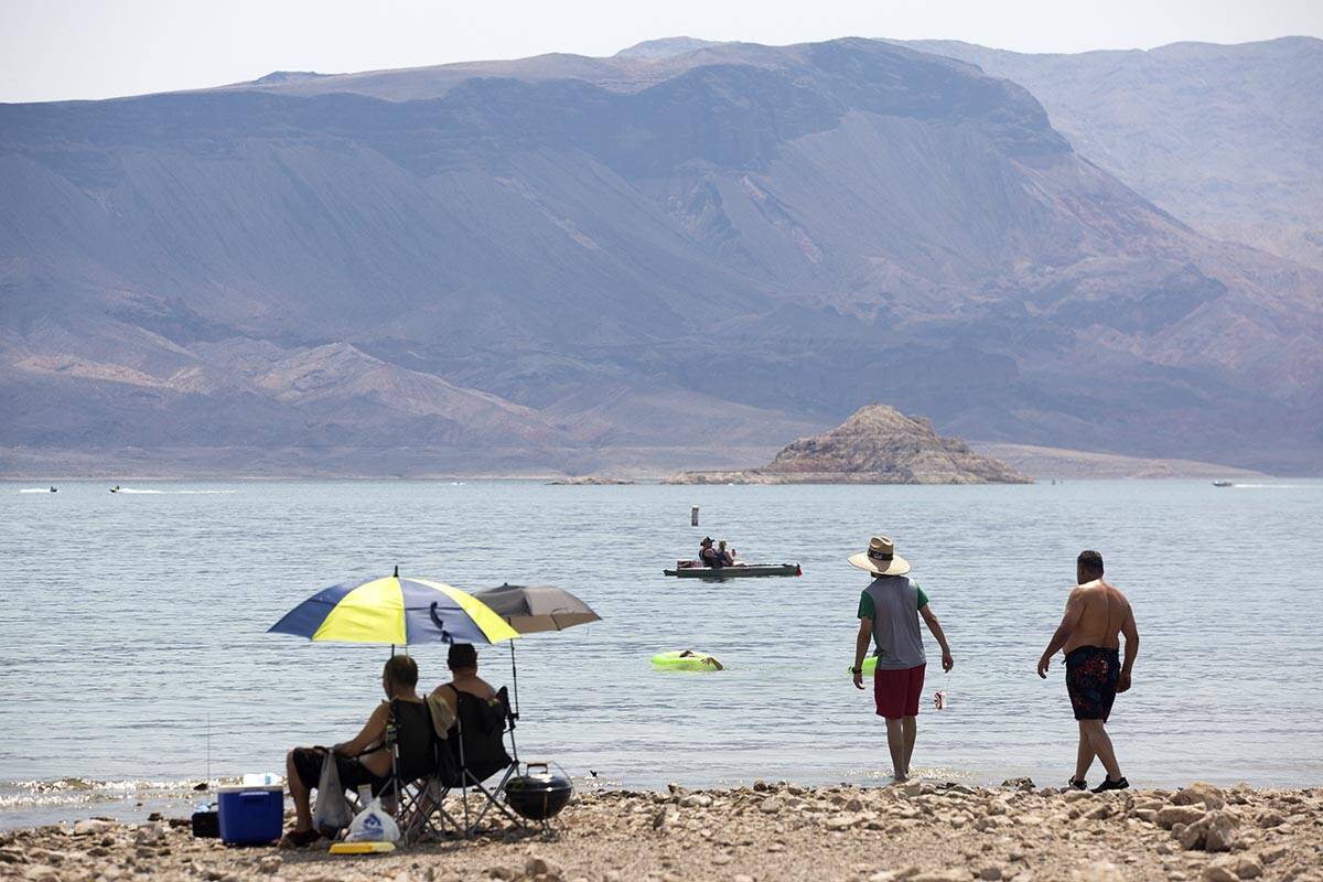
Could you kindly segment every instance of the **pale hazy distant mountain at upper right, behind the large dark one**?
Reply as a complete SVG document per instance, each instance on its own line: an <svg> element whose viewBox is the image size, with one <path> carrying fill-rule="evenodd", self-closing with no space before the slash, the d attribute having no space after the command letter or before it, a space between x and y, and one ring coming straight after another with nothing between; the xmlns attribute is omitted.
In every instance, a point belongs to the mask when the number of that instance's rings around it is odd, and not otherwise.
<svg viewBox="0 0 1323 882"><path fill-rule="evenodd" d="M1323 267L1323 40L1073 56L906 45L1020 83L1076 149L1197 229Z"/></svg>

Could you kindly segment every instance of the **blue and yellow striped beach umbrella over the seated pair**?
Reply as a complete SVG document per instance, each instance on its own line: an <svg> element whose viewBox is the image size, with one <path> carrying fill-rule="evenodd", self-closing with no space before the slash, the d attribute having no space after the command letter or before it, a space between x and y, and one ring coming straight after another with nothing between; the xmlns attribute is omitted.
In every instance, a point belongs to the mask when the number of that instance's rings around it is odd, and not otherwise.
<svg viewBox="0 0 1323 882"><path fill-rule="evenodd" d="M267 629L335 643L500 643L515 628L467 591L393 575L318 591Z"/></svg>

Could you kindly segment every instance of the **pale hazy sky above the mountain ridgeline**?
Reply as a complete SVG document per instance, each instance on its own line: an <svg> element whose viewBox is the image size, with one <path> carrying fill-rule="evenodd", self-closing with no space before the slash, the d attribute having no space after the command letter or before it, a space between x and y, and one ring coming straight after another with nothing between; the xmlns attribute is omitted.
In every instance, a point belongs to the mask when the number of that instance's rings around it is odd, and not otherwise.
<svg viewBox="0 0 1323 882"><path fill-rule="evenodd" d="M951 38L1020 52L1323 37L1323 0L0 0L0 100L107 98L688 34Z"/></svg>

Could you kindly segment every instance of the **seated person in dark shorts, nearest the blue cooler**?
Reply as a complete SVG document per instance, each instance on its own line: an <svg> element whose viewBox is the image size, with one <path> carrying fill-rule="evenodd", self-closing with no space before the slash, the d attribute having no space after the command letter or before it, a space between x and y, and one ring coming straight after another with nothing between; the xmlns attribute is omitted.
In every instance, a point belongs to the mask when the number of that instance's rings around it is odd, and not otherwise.
<svg viewBox="0 0 1323 882"><path fill-rule="evenodd" d="M386 748L386 718L392 702L397 713L426 715L427 706L415 692L418 685L418 664L409 656L393 656L381 672L381 689L386 701L377 705L363 731L351 741L331 747L335 755L336 771L340 772L340 785L356 789L364 784L372 792L380 792L390 782L390 751ZM429 723L430 725L430 723ZM284 776L290 784L290 797L294 800L294 829L286 834L291 845L308 845L318 841L321 833L312 826L310 792L316 789L321 779L321 763L325 760L325 747L295 747L284 758Z"/></svg>

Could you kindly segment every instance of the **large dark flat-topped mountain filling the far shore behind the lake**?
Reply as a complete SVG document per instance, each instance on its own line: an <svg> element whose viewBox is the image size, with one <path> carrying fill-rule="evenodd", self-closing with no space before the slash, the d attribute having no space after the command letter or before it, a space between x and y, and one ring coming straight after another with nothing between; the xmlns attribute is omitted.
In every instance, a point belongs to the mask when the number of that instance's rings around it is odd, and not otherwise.
<svg viewBox="0 0 1323 882"><path fill-rule="evenodd" d="M737 468L877 399L1316 471L1307 237L1236 241L923 49L0 106L0 471Z"/></svg>

